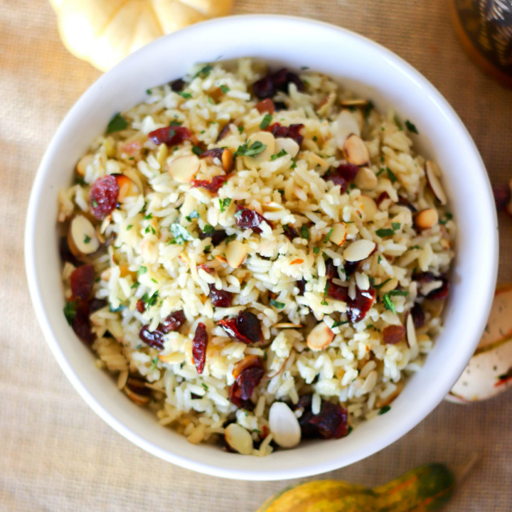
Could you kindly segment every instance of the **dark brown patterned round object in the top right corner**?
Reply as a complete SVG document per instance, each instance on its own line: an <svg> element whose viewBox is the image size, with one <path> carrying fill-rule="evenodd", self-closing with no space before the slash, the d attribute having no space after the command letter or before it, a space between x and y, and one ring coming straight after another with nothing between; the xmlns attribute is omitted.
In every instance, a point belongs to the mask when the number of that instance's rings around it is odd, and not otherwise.
<svg viewBox="0 0 512 512"><path fill-rule="evenodd" d="M453 0L453 13L469 56L512 87L512 0Z"/></svg>

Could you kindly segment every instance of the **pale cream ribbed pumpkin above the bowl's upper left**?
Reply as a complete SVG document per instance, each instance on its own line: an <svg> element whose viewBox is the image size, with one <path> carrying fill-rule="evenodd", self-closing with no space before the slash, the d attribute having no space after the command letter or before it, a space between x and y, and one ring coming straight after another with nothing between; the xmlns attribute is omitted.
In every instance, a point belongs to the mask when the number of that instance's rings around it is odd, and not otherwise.
<svg viewBox="0 0 512 512"><path fill-rule="evenodd" d="M107 71L164 34L230 14L233 0L50 0L73 55ZM186 51L186 48L181 48Z"/></svg>

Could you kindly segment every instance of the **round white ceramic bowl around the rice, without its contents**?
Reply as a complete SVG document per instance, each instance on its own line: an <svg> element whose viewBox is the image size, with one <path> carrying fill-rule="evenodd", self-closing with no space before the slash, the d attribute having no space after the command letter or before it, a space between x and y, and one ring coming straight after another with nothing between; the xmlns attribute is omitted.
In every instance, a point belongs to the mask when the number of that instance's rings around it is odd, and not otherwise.
<svg viewBox="0 0 512 512"><path fill-rule="evenodd" d="M414 375L386 415L349 437L307 442L269 457L242 457L219 447L189 444L130 402L97 370L63 315L57 194L112 114L144 100L149 87L184 75L194 63L244 56L311 69L339 78L393 106L420 131L417 149L439 162L459 226L457 259L445 329L425 368ZM469 133L442 95L389 50L326 23L284 16L235 16L186 28L149 44L103 75L78 100L48 147L33 184L26 223L26 271L36 314L55 358L82 398L120 434L188 469L233 479L289 479L346 466L378 452L415 427L441 402L476 348L489 314L498 262L494 201L484 164Z"/></svg>

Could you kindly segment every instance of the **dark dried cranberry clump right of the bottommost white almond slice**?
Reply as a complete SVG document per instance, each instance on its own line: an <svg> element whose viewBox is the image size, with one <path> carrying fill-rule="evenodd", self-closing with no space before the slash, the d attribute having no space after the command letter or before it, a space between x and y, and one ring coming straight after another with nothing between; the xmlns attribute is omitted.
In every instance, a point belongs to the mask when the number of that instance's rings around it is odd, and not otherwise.
<svg viewBox="0 0 512 512"><path fill-rule="evenodd" d="M299 425L305 438L340 439L348 434L348 412L341 405L323 401L317 415L306 409Z"/></svg>

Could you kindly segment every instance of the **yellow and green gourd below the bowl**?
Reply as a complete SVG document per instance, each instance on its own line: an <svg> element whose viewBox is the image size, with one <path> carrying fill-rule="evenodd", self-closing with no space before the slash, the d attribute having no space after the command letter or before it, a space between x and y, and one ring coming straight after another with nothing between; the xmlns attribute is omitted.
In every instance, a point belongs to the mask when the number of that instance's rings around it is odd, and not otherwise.
<svg viewBox="0 0 512 512"><path fill-rule="evenodd" d="M369 489L336 480L316 480L271 496L257 512L427 512L449 501L452 471L427 464L388 484Z"/></svg>

